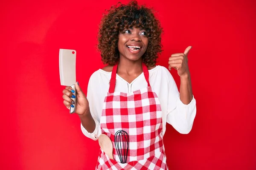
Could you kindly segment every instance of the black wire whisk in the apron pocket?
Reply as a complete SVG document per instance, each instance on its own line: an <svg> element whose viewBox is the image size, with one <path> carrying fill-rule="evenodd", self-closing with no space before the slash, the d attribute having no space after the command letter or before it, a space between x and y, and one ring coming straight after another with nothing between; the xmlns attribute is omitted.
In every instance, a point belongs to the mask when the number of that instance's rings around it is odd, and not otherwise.
<svg viewBox="0 0 256 170"><path fill-rule="evenodd" d="M122 164L126 163L129 150L129 135L124 130L118 130L115 134L116 152Z"/></svg>

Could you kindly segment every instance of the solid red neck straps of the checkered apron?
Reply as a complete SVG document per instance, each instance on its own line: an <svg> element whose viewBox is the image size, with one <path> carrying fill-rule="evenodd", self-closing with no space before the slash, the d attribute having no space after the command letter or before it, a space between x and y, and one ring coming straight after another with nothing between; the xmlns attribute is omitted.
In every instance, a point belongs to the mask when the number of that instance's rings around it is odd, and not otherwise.
<svg viewBox="0 0 256 170"><path fill-rule="evenodd" d="M111 74L111 79L110 79L110 85L109 85L109 93L113 93L115 91L115 86L116 86L116 71L117 71L117 65L113 66L113 70L112 70L112 74ZM145 63L142 63L142 69L143 69L143 73L144 73L144 77L148 83L148 87L150 87L149 84L149 73L148 73L148 67L145 65Z"/></svg>

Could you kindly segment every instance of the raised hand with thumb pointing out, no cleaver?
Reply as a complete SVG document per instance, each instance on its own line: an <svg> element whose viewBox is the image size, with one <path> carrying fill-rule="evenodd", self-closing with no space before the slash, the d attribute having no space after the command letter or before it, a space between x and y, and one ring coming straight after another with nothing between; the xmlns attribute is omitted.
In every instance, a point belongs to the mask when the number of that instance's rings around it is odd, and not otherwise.
<svg viewBox="0 0 256 170"><path fill-rule="evenodd" d="M188 46L184 53L175 53L169 57L169 70L175 68L178 71L180 77L185 77L189 75L189 66L188 66L188 54L192 46Z"/></svg>

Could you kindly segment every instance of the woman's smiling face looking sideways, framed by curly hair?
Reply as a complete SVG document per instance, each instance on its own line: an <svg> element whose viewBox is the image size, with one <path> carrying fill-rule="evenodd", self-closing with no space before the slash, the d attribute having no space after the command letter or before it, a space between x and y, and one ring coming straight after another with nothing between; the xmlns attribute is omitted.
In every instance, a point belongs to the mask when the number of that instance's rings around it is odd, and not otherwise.
<svg viewBox="0 0 256 170"><path fill-rule="evenodd" d="M119 34L118 50L121 57L137 61L148 47L147 32L140 28L125 29Z"/></svg>

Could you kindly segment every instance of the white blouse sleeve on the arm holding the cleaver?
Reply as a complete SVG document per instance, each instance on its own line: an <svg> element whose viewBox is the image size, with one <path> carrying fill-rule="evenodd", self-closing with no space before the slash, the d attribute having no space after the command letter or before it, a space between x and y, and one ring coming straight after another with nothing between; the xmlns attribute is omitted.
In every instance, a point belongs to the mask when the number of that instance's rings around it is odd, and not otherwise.
<svg viewBox="0 0 256 170"><path fill-rule="evenodd" d="M95 74L95 73L94 73ZM93 140L98 140L98 136L99 136L99 121L100 121L100 118L97 114L97 106L98 106L98 103L97 101L99 101L99 99L97 98L99 95L95 94L95 89L97 89L96 85L97 83L95 83L96 81L96 76L95 75L92 75L89 79L89 82L88 82L88 88L87 88L87 99L88 99L88 102L89 102L89 107L90 107L90 113L93 117L93 120L95 121L95 130L93 131L93 133L89 133L84 127L83 125L81 124L81 130L82 132L84 133L85 136L87 136L88 138L90 139L93 139Z"/></svg>

